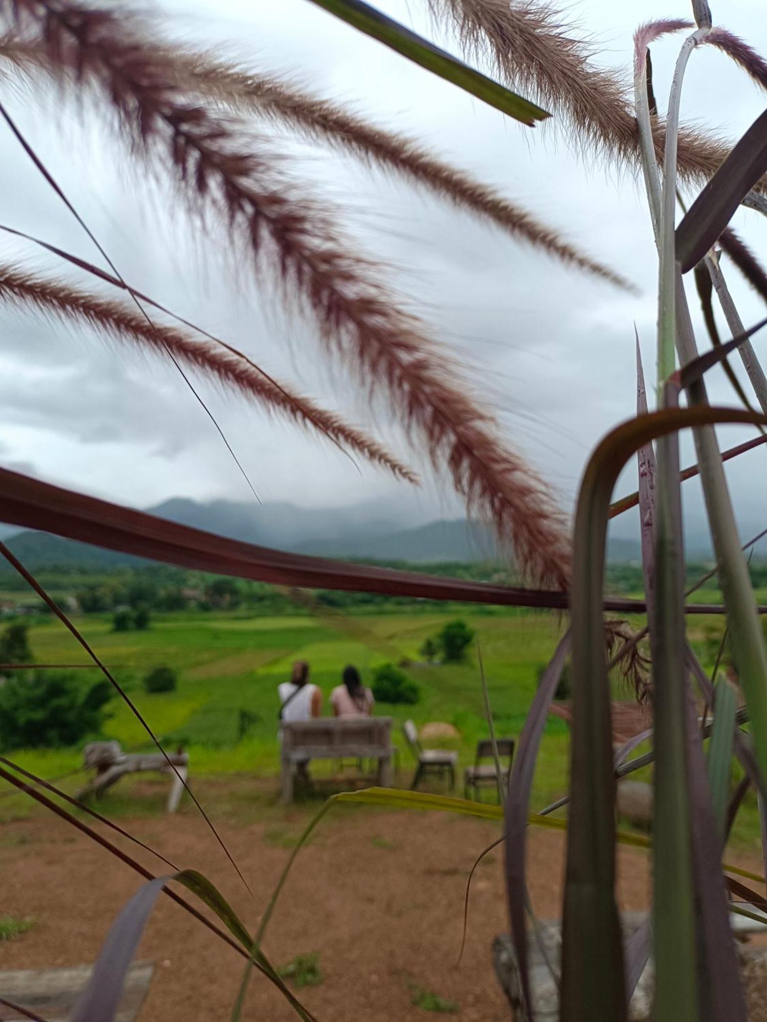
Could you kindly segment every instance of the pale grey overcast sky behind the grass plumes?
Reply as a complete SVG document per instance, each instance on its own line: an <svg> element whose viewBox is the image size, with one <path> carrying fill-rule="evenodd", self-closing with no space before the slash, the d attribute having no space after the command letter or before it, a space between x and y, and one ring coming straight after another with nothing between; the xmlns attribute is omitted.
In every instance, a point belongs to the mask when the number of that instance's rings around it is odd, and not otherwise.
<svg viewBox="0 0 767 1022"><path fill-rule="evenodd" d="M409 185L286 136L277 143L291 176L337 207L360 250L391 264L393 288L463 360L509 444L524 451L562 504L572 507L589 451L633 414L634 323L648 382L655 378L657 264L637 182L574 153L567 125L554 120L534 131L517 126L308 0L164 0L152 6L168 12L178 38L204 41L254 68L290 75L421 139L637 283L640 294L627 295ZM431 24L425 0L379 0L378 6L458 52L450 35ZM723 24L767 52L763 0L713 7L715 19L726 16ZM628 76L636 22L687 16L689 10L683 2L674 7L661 0L580 0L569 12L597 43L598 59ZM672 37L653 47L663 106L678 45ZM311 327L284 314L268 284L257 286L238 274L220 254L215 237L195 239L183 217L173 216L172 196L143 173L131 174L126 152L88 111L84 119L57 98L24 90L13 92L10 105L127 279L244 349L269 372L365 424L422 468L386 410L371 418L347 373L320 354ZM734 139L763 106L764 97L723 56L706 49L692 55L685 120ZM0 144L1 222L98 261L7 131L0 131ZM737 226L764 256L767 224L757 214L741 214ZM2 237L0 259L58 269L39 249ZM760 303L732 270L729 278L743 320L762 316ZM139 507L173 496L252 500L210 420L172 367L1 308L0 336L0 463L6 467ZM762 344L757 341L758 349ZM413 497L384 472L365 464L356 468L321 438L272 421L205 381L199 389L262 501L311 506L401 501L413 503L422 517L456 509L449 487L427 484ZM711 393L733 403L724 377L712 377ZM748 434L721 435L729 446ZM685 459L690 456L685 444ZM763 523L765 457L758 450L730 470L743 527ZM694 512L695 484L686 485ZM622 480L622 492L628 489L634 489L631 474Z"/></svg>

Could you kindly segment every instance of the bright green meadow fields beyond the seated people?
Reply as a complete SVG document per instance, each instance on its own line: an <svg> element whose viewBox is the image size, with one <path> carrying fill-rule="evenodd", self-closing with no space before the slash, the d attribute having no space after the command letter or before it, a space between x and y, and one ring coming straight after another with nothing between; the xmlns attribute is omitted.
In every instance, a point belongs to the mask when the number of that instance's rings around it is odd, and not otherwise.
<svg viewBox="0 0 767 1022"><path fill-rule="evenodd" d="M716 601L719 594L702 592L698 599ZM407 717L417 725L430 721L453 725L460 733L453 747L459 752L461 765L470 762L478 739L488 735L476 647L463 663L419 662L418 650L424 639L454 617L466 621L477 633L496 734L518 737L539 669L565 628L565 618L557 614L466 607L445 612L413 608L408 613L389 610L332 616L184 611L153 614L147 631L127 633L112 631L110 615L82 615L77 620L83 636L114 671L157 738L169 748L183 745L188 750L192 779L227 774L274 777L276 795L276 689L299 658L311 665L312 681L323 693L324 712L329 712L330 691L341 683L346 664L356 664L369 684L377 664L413 661L406 671L420 688L420 701L413 706L376 706L377 713L394 717L393 740L402 764L400 783L409 783L413 768L401 732ZM705 663L715 655L712 651L720 630L720 618L695 616L688 620L693 645ZM86 662L83 650L55 620L38 619L30 629L30 641L37 662ZM178 673L177 690L147 694L144 676L166 664ZM96 670L88 675L94 680L98 677ZM631 692L614 681L614 695L630 698ZM107 706L100 737L116 739L128 750L151 747L139 721L117 696ZM565 792L568 755L568 728L558 718L549 717L536 768L534 808ZM11 758L39 776L55 777L76 770L82 754L80 748L20 750ZM329 763L317 764L316 773L321 778L330 770ZM646 775L645 771L638 776ZM110 794L107 799L112 797ZM748 801L739 820L736 837L750 841L758 824L756 809Z"/></svg>

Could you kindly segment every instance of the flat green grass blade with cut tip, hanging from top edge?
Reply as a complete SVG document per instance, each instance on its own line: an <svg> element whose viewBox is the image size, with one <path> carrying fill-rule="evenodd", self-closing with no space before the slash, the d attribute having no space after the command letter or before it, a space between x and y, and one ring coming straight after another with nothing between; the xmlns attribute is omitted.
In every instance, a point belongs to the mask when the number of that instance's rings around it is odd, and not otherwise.
<svg viewBox="0 0 767 1022"><path fill-rule="evenodd" d="M536 121L543 121L551 115L530 100L517 96L516 93L493 82L473 67L457 60L398 21L381 14L375 7L363 3L362 0L312 0L312 3L364 32L366 36L377 39L379 43L432 72L433 75L452 82L464 92L477 96L478 99L513 118L514 121L533 127Z"/></svg>

